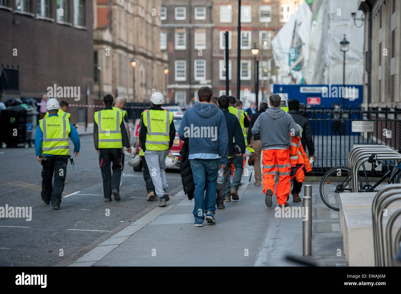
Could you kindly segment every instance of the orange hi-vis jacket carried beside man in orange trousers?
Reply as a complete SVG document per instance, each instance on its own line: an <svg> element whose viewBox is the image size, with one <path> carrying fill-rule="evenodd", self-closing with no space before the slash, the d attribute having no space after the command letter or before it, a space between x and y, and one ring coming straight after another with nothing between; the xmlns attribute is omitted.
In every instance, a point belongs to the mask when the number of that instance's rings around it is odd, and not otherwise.
<svg viewBox="0 0 401 294"><path fill-rule="evenodd" d="M310 165L309 158L302 147L301 138L298 136L290 136L290 162L292 168L298 168L296 174L291 178L295 177L298 182L302 183L305 179L303 167L305 167L306 172L309 172L312 170L312 165Z"/></svg>

